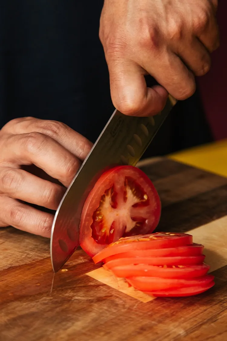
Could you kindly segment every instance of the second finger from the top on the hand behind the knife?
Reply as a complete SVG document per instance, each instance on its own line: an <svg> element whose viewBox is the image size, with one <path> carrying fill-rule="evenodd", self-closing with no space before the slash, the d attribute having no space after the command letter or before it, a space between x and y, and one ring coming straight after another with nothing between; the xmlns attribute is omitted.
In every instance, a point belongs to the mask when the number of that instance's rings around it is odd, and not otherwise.
<svg viewBox="0 0 227 341"><path fill-rule="evenodd" d="M1 146L1 159L14 167L34 164L68 187L80 161L51 137L33 132L7 136Z"/></svg>

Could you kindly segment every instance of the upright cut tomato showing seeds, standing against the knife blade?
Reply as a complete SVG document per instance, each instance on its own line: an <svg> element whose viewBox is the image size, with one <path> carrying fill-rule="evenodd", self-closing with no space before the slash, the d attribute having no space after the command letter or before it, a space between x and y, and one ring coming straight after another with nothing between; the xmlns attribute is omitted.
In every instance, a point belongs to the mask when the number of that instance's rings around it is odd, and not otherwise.
<svg viewBox="0 0 227 341"><path fill-rule="evenodd" d="M120 237L151 233L161 203L142 170L118 166L101 175L88 195L80 223L80 246L94 256Z"/></svg>

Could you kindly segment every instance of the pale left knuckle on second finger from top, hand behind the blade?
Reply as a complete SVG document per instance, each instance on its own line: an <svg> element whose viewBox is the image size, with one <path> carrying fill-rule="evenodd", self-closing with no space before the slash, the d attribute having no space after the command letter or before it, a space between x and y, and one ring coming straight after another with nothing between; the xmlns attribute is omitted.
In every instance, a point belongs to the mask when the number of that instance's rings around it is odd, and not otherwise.
<svg viewBox="0 0 227 341"><path fill-rule="evenodd" d="M38 152L39 150L45 148L47 140L47 135L34 131L28 134L23 134L22 145L29 152L34 154L35 152Z"/></svg>

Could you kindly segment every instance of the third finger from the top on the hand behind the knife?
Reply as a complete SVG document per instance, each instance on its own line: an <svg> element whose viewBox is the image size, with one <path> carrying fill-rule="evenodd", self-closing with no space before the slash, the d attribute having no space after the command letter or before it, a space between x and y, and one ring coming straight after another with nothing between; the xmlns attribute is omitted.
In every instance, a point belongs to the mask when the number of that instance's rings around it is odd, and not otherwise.
<svg viewBox="0 0 227 341"><path fill-rule="evenodd" d="M0 191L12 198L56 210L65 188L22 169L0 168Z"/></svg>

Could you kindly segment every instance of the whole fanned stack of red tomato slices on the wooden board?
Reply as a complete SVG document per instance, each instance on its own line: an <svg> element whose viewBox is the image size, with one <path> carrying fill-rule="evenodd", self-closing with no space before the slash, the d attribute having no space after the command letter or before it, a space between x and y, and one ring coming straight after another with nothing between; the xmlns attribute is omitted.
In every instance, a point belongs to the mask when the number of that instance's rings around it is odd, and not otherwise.
<svg viewBox="0 0 227 341"><path fill-rule="evenodd" d="M103 267L148 295L192 296L214 285L207 275L204 246L184 233L157 232L120 238L93 257Z"/></svg>

